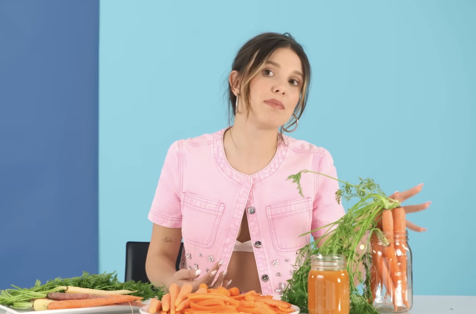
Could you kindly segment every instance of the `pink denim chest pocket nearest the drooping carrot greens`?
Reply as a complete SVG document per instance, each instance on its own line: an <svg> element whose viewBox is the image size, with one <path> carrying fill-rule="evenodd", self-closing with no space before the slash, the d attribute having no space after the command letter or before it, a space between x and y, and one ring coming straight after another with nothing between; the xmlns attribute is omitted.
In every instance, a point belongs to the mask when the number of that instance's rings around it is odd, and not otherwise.
<svg viewBox="0 0 476 314"><path fill-rule="evenodd" d="M290 252L309 243L311 231L311 198L293 200L266 207L273 246L278 252Z"/></svg>

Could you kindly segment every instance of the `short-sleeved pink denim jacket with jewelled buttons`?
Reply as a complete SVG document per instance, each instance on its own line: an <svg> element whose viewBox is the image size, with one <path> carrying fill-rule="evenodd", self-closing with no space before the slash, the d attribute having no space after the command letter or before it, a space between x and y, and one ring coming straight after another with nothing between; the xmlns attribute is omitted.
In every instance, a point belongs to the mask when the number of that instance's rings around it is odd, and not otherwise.
<svg viewBox="0 0 476 314"><path fill-rule="evenodd" d="M182 266L205 276L216 261L227 269L243 210L261 279L262 293L280 295L291 278L296 252L310 241L299 235L336 221L345 214L337 204L336 180L304 173L301 185L289 175L307 169L337 178L327 150L283 136L268 166L245 175L228 163L223 149L226 129L173 143L165 158L149 220L182 228ZM324 229L313 232L319 237Z"/></svg>

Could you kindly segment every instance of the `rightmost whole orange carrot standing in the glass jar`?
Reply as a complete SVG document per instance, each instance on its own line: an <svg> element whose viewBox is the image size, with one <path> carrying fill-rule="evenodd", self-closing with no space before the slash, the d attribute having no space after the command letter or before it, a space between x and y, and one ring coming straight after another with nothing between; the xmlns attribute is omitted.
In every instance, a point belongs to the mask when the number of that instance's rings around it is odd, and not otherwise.
<svg viewBox="0 0 476 314"><path fill-rule="evenodd" d="M408 304L408 292L407 292L407 249L405 235L407 233L407 228L405 225L406 222L406 213L405 208L398 207L392 209L393 214L393 229L396 236L395 249L397 251L397 260L400 264L400 270L402 272L402 298L403 303L410 308Z"/></svg>

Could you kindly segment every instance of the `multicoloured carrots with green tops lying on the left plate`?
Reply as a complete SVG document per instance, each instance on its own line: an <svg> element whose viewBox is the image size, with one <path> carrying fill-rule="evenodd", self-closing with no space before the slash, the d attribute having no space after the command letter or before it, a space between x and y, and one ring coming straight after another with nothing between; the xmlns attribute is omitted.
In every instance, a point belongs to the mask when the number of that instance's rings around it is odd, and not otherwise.
<svg viewBox="0 0 476 314"><path fill-rule="evenodd" d="M91 307L107 304L134 304L140 306L141 300L162 298L164 287L129 280L121 283L115 272L73 278L56 278L41 285L39 280L34 287L0 291L0 304L16 309L45 310L77 307Z"/></svg>

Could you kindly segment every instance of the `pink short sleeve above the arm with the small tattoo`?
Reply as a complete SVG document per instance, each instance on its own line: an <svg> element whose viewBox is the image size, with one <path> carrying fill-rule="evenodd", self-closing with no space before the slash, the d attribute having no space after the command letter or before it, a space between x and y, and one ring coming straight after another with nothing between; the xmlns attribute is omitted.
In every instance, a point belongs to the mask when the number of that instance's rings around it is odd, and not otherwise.
<svg viewBox="0 0 476 314"><path fill-rule="evenodd" d="M169 147L155 191L149 220L168 228L182 228L178 142Z"/></svg>

